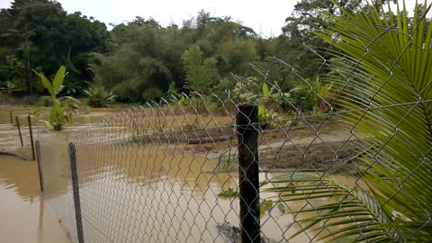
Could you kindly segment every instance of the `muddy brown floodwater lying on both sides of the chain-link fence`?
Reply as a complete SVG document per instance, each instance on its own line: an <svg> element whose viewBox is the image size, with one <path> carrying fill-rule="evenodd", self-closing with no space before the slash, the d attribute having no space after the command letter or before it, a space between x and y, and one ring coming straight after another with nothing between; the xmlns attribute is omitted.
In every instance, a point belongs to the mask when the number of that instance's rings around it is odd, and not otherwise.
<svg viewBox="0 0 432 243"><path fill-rule="evenodd" d="M18 112L24 115L24 110ZM112 112L101 109L91 115L76 115L66 132L83 129ZM0 123L7 122L8 118L0 119ZM220 170L217 157L195 154L182 146L76 145L88 242L129 242L129 238L143 242L229 240L220 237L218 225L228 222L238 227L238 199L220 198L218 194L237 188L238 172L215 173ZM0 242L76 239L66 141L61 135L47 138L41 149L44 195L40 193L36 163L0 157ZM261 173L260 180L275 175L280 173ZM346 184L357 183L343 175L335 177ZM274 195L261 193L263 199ZM289 207L295 211L305 203L291 202ZM296 224L288 228L293 221L291 214L275 207L261 218L262 231L267 238L284 240L301 229ZM290 242L309 242L312 237L300 234Z"/></svg>

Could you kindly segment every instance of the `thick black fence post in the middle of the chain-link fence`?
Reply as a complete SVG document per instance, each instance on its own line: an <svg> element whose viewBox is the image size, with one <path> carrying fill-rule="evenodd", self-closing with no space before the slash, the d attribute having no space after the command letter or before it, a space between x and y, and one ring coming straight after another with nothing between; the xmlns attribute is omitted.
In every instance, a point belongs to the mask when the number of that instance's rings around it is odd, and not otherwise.
<svg viewBox="0 0 432 243"><path fill-rule="evenodd" d="M260 242L258 106L240 104L237 113L241 242Z"/></svg>

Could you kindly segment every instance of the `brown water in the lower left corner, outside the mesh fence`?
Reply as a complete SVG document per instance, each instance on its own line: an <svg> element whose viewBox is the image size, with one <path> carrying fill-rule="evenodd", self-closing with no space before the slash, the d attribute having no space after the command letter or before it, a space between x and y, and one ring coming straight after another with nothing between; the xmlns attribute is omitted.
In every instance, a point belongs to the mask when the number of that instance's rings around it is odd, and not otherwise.
<svg viewBox="0 0 432 243"><path fill-rule="evenodd" d="M0 242L69 242L40 194L37 166L0 156Z"/></svg>

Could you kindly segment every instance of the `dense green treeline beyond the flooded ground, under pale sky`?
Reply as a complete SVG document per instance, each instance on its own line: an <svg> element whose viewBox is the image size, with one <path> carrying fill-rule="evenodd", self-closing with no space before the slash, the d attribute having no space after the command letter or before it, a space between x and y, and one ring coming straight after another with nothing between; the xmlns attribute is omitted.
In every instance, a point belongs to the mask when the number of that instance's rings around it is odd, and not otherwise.
<svg viewBox="0 0 432 243"><path fill-rule="evenodd" d="M338 2L351 11L362 6ZM321 28L314 18L334 9L330 0L302 0L287 13L280 36L263 38L229 16L204 11L181 26L136 17L108 31L91 16L67 14L56 1L15 0L0 10L0 87L3 93L45 94L32 70L50 76L65 65L62 94L80 96L103 86L121 102L139 103L173 90L217 93L230 73L242 74L249 63L266 67L274 56L311 78L322 60L313 53L294 60L305 46L325 48L313 34Z"/></svg>

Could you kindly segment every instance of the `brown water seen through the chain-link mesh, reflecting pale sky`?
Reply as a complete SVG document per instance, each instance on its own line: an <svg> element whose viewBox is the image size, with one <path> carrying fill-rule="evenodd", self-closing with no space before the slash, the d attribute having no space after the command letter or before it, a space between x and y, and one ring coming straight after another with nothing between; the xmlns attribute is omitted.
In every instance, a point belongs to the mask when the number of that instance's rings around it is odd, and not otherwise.
<svg viewBox="0 0 432 243"><path fill-rule="evenodd" d="M73 203L66 146L49 145L49 196L58 206L60 218ZM215 173L218 158L194 153L187 145L124 144L76 145L81 208L85 238L129 242L226 242L217 226L224 222L238 227L238 199L220 198L223 189L238 187L238 172ZM57 158L56 158L57 157ZM47 160L47 157L44 158ZM56 176L58 175L58 176ZM275 176L262 173L261 180ZM261 193L262 198L271 193ZM297 203L297 202L296 202ZM290 205L291 208L300 208ZM283 240L298 230L284 228L293 222L276 208L261 219L267 238ZM68 223L74 230L73 222ZM293 242L309 241L306 234Z"/></svg>

